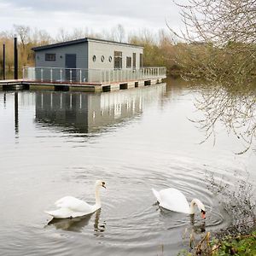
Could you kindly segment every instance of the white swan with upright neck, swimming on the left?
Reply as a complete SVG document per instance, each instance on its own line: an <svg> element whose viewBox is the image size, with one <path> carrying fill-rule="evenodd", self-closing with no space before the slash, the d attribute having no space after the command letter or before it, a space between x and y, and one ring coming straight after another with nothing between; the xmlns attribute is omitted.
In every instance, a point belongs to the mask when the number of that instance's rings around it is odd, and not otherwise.
<svg viewBox="0 0 256 256"><path fill-rule="evenodd" d="M67 195L55 201L55 206L59 207L59 209L55 211L45 211L53 218L76 218L84 215L88 215L90 213L96 212L96 210L101 208L101 199L100 199L100 191L99 189L105 187L105 182L101 180L96 180L95 183L95 197L96 203L91 206L87 202L79 200L73 196Z"/></svg>

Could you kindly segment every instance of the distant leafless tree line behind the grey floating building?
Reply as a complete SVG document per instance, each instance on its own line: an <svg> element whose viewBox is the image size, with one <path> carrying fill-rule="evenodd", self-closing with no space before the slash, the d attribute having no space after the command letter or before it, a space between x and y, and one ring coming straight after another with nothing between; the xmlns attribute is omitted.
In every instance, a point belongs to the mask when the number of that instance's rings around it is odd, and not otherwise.
<svg viewBox="0 0 256 256"><path fill-rule="evenodd" d="M34 52L32 47L54 44L78 38L101 38L138 44L144 47L143 63L145 67L165 66L168 71L177 70L174 61L175 51L179 44L174 44L171 32L150 32L143 29L140 32L126 33L121 25L114 26L111 30L104 30L101 33L85 29L74 29L73 32L61 28L55 37L49 32L30 26L14 25L10 31L0 32L0 70L3 69L3 44L6 47L6 69L11 71L14 67L14 38L18 38L19 67L34 65ZM1 72L0 72L1 73Z"/></svg>

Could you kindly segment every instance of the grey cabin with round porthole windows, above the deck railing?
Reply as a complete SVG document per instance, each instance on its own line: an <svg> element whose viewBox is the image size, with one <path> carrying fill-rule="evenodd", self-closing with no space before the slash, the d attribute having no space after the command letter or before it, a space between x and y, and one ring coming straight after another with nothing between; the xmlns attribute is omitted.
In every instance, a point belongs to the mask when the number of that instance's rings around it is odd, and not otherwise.
<svg viewBox="0 0 256 256"><path fill-rule="evenodd" d="M36 67L79 69L138 69L143 67L143 47L93 38L32 48Z"/></svg>

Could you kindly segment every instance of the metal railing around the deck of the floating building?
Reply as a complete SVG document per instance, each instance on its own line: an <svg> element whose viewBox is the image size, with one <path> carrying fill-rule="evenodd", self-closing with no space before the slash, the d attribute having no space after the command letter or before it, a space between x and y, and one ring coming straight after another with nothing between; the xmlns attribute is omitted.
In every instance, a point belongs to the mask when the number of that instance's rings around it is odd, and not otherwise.
<svg viewBox="0 0 256 256"><path fill-rule="evenodd" d="M110 84L133 80L163 78L166 78L166 67L143 67L139 69L23 67L24 80L44 83Z"/></svg>

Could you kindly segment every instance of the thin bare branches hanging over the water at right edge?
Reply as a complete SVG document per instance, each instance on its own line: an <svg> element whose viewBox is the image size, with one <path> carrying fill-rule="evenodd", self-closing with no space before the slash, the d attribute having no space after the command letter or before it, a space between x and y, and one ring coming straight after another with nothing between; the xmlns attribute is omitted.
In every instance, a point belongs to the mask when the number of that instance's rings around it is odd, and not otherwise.
<svg viewBox="0 0 256 256"><path fill-rule="evenodd" d="M195 108L203 117L190 120L205 132L201 143L210 137L215 143L215 128L221 124L244 145L245 149L236 154L253 148L256 137L256 84L201 84L200 88L201 96L195 99Z"/></svg>

